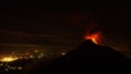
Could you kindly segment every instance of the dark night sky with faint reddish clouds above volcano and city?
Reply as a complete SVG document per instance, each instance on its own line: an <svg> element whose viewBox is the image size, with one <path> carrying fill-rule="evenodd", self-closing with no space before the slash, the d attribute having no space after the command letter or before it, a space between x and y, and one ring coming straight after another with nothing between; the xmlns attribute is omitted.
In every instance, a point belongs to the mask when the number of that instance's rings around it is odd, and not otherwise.
<svg viewBox="0 0 131 74"><path fill-rule="evenodd" d="M104 44L131 53L130 18L131 5L122 1L1 2L0 46L71 50L88 30L100 30Z"/></svg>

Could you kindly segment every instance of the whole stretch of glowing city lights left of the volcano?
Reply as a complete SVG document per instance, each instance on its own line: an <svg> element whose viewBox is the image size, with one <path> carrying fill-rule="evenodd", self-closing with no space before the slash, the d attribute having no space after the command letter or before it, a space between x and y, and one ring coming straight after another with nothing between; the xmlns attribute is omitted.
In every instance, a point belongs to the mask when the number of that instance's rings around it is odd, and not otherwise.
<svg viewBox="0 0 131 74"><path fill-rule="evenodd" d="M28 52L11 52L7 54L0 54L0 74L8 73L10 71L26 71L31 65L34 66L36 64L44 62L48 62L56 58L56 55L64 55L66 52L60 53L45 53L39 50L28 51ZM55 57L53 57L55 55ZM22 65L23 64L23 65Z"/></svg>

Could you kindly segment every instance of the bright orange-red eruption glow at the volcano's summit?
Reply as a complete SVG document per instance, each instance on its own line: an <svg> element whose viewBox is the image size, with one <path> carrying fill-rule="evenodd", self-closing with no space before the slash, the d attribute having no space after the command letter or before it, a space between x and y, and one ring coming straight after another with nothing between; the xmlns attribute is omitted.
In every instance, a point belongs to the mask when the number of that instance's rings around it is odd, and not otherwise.
<svg viewBox="0 0 131 74"><path fill-rule="evenodd" d="M93 33L93 34L87 34L85 36L85 39L92 39L93 42L95 44L100 44L100 37L102 37L102 33L100 32L96 32L96 33Z"/></svg>

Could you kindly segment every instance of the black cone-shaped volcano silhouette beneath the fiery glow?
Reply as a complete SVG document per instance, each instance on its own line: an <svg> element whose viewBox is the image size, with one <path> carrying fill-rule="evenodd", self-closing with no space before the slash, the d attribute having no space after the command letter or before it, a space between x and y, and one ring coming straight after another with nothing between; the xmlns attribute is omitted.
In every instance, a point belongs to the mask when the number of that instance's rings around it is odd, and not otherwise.
<svg viewBox="0 0 131 74"><path fill-rule="evenodd" d="M34 70L33 73L88 73L95 71L120 71L131 67L130 59L106 46L86 40L66 55Z"/></svg>

